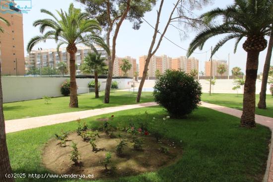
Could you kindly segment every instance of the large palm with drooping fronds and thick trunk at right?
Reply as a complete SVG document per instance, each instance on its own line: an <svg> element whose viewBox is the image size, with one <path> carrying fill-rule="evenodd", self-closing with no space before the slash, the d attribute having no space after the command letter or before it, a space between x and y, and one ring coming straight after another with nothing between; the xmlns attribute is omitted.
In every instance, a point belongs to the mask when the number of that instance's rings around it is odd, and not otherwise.
<svg viewBox="0 0 273 182"><path fill-rule="evenodd" d="M269 35L273 22L272 0L234 0L234 4L226 8L216 8L202 15L210 23L191 42L188 56L197 48L203 49L205 42L216 35L227 34L214 47L212 55L228 40L236 39L234 52L239 42L246 37L243 49L247 52L246 80L244 87L243 115L241 126L254 127L255 123L255 92L259 63L259 54L267 47L266 35ZM211 25L212 20L222 17L223 22Z"/></svg>

